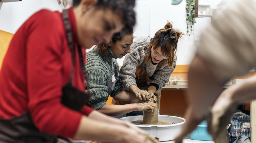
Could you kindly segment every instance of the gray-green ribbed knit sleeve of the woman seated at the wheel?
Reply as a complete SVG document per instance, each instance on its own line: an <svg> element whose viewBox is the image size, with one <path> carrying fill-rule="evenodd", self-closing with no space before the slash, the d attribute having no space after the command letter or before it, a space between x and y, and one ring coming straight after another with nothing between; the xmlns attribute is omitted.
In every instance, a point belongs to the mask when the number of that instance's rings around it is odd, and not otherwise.
<svg viewBox="0 0 256 143"><path fill-rule="evenodd" d="M86 92L91 92L92 97L89 99L88 104L93 109L99 109L106 104L108 99L108 79L109 71L104 66L104 61L100 55L91 50L86 53L87 63L85 69L88 74L89 89Z"/></svg>

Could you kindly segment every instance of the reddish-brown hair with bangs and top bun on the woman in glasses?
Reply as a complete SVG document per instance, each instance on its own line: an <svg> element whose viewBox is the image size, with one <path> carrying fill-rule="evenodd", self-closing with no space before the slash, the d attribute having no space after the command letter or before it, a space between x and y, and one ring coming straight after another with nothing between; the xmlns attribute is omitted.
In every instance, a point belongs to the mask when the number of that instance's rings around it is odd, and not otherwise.
<svg viewBox="0 0 256 143"><path fill-rule="evenodd" d="M172 24L167 21L164 28L158 30L155 33L154 38L150 40L148 51L145 55L145 62L151 60L151 50L161 46L162 54L168 57L167 59L162 60L163 65L173 67L178 40L182 38L182 36L184 36L184 34L178 29L173 29ZM154 49L152 49L152 46L154 46Z"/></svg>

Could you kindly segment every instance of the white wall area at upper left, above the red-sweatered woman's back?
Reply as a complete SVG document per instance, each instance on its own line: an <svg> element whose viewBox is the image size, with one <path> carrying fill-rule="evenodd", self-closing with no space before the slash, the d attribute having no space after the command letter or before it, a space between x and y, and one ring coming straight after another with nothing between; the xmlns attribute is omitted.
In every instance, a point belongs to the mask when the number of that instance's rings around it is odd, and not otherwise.
<svg viewBox="0 0 256 143"><path fill-rule="evenodd" d="M68 0L68 7L71 5L72 0ZM22 0L3 3L0 9L0 29L15 33L34 12L43 8L62 11L64 6L62 3L59 5L57 0Z"/></svg>

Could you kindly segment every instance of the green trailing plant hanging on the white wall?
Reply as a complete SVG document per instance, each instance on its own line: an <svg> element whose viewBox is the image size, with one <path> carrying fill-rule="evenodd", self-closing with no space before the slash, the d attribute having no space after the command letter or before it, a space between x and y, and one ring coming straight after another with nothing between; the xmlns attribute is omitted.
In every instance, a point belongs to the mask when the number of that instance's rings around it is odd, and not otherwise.
<svg viewBox="0 0 256 143"><path fill-rule="evenodd" d="M196 23L196 20L194 18L195 15L195 3L196 0L187 0L187 5L186 5L186 12L187 12L187 33L190 36L190 33L193 31L192 27L194 23Z"/></svg>

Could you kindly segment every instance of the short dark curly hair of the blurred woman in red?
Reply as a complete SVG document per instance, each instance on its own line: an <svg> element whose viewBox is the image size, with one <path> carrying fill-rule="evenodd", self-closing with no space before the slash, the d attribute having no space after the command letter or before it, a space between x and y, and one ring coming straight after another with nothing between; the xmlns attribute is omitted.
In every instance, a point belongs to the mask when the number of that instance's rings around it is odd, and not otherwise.
<svg viewBox="0 0 256 143"><path fill-rule="evenodd" d="M81 0L73 0L73 7L77 7L80 2ZM133 33L133 26L136 23L134 11L135 0L98 0L95 7L98 9L112 10L122 18L122 23L124 24L122 31L127 34Z"/></svg>

